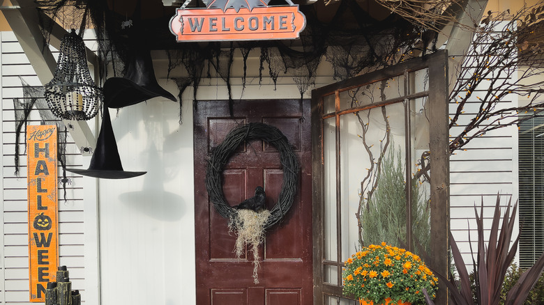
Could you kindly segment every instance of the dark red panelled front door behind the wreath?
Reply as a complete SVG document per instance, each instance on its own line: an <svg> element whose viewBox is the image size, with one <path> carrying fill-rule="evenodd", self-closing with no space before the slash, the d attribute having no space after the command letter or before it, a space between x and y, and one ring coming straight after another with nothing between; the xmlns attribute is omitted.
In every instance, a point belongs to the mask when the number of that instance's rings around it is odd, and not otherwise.
<svg viewBox="0 0 544 305"><path fill-rule="evenodd" d="M195 110L195 235L197 304L297 305L312 304L312 204L310 102L304 100L236 101L229 116L226 101L201 101ZM260 122L278 127L301 163L299 187L291 210L266 233L259 251L259 283L253 283L252 255L234 253L236 236L209 202L204 178L211 149L232 128ZM266 191L270 210L278 201L282 169L278 151L262 141L245 143L223 171L223 192L229 205Z"/></svg>

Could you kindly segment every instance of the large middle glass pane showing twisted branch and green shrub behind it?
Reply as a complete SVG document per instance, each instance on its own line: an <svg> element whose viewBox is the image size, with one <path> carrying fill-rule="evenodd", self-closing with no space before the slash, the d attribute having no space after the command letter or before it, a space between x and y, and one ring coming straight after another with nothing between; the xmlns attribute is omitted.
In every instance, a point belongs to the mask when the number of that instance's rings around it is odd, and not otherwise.
<svg viewBox="0 0 544 305"><path fill-rule="evenodd" d="M364 245L405 239L404 117L399 102L340 118L342 260L360 248L359 234Z"/></svg>

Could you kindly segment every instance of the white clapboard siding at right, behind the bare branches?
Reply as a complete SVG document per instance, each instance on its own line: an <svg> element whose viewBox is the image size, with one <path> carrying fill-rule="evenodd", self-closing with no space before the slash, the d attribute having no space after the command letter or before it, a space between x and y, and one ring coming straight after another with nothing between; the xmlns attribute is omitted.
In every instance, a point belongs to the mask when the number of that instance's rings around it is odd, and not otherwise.
<svg viewBox="0 0 544 305"><path fill-rule="evenodd" d="M479 107L478 95L485 95L488 88L488 81L483 81L481 86L473 88L474 94L464 106L464 113L458 120L459 125L450 129L450 136L460 134L465 125L474 118ZM455 100L451 101L450 116L455 114L457 106ZM515 106L517 95L507 95L499 102L498 107ZM503 210L511 198L513 203L517 200L517 127L504 127L472 139L464 146L464 150L458 150L455 155L451 155L450 160L451 231L463 253L465 263L470 265L472 259L469 256L469 240L473 242L473 249L476 249L474 246L477 240L474 207L478 207L479 214L483 201L487 240L497 195L501 196ZM517 234L517 231L515 226L514 233Z"/></svg>

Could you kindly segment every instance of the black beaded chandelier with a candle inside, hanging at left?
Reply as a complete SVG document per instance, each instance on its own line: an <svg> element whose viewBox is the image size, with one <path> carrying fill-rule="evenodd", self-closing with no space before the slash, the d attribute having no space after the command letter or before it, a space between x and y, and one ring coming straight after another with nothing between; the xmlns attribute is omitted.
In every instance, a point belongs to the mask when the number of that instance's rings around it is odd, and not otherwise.
<svg viewBox="0 0 544 305"><path fill-rule="evenodd" d="M102 106L102 88L91 79L85 45L75 30L62 38L55 74L44 87L47 105L65 120L89 120Z"/></svg>

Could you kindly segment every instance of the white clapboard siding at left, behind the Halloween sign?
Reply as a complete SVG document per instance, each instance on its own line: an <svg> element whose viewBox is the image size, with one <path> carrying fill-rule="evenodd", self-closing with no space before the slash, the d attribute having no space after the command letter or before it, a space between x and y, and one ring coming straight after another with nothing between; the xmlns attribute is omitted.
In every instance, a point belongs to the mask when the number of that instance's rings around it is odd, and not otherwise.
<svg viewBox="0 0 544 305"><path fill-rule="evenodd" d="M36 72L29 63L22 47L11 32L0 33L1 50L1 104L0 118L2 146L0 147L2 191L1 213L3 224L0 244L0 304L29 303L29 258L28 258L28 203L27 203L27 157L24 155L24 127L20 134L20 172L15 175L15 111L14 98L22 98L21 78L30 86L42 86ZM90 41L90 40L89 40ZM89 42L86 39L86 42ZM93 44L87 43L89 47ZM96 48L96 45L93 46ZM56 50L55 58L58 56ZM30 125L40 124L36 107L29 116ZM54 124L54 122L46 122ZM66 132L59 130L60 133ZM66 162L68 166L82 166L80 148L75 146L68 134ZM59 178L62 169L59 164ZM84 191L82 176L66 172L70 183L64 190L59 184L59 265L66 265L70 272L73 289L80 290L82 302L86 300L84 272Z"/></svg>

